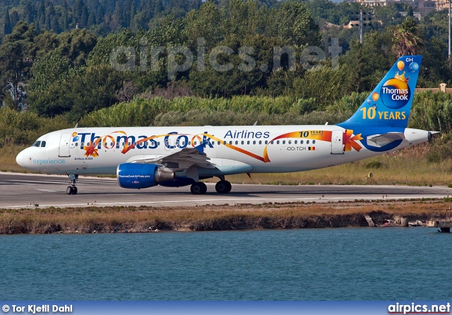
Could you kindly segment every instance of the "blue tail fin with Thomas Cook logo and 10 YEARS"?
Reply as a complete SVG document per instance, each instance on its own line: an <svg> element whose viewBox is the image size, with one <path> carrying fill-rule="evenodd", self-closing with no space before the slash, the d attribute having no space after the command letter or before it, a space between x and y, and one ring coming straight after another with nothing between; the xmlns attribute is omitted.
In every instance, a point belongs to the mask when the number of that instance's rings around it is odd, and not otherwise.
<svg viewBox="0 0 452 315"><path fill-rule="evenodd" d="M421 61L422 56L400 57L357 112L338 126L345 129L357 126L406 128Z"/></svg>

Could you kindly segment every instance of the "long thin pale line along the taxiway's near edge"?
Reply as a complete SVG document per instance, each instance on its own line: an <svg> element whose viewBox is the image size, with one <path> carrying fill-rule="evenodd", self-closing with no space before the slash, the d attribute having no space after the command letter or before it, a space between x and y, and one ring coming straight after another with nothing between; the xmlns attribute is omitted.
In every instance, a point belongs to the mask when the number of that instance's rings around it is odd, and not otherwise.
<svg viewBox="0 0 452 315"><path fill-rule="evenodd" d="M49 204L49 205L40 205L40 207L69 207L69 206L117 206L117 205L133 205L133 204L156 204L156 203L196 203L196 202L213 202L213 201L262 201L262 203L265 203L266 200L263 200L265 197L261 198L221 198L221 199L197 199L197 200L179 200L179 201L135 201L135 202L114 202L114 203L61 203L61 204ZM445 198L444 196L396 196L391 197L388 196L385 199L391 199L391 200L399 200L399 199L422 199L422 198ZM311 201L318 201L321 200L322 202L326 202L328 200L344 200L344 199L350 199L350 200L379 200L379 198L375 197L362 197L362 198L356 198L356 197L332 197L332 198L319 198L319 197L309 197L309 198L270 198L268 201L274 202L274 201L305 201L305 200L311 200ZM189 205L186 205L189 206ZM2 208L29 208L30 205L26 206L4 206ZM33 206L32 206L33 207ZM35 207L36 208L36 207Z"/></svg>

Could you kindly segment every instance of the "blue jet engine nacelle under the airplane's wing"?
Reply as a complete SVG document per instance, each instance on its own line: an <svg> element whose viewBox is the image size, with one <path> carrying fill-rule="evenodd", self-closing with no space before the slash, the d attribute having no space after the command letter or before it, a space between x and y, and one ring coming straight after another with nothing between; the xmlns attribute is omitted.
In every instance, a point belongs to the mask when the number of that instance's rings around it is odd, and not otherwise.
<svg viewBox="0 0 452 315"><path fill-rule="evenodd" d="M117 168L117 178L122 188L141 189L173 180L174 172L165 170L162 165L123 163Z"/></svg>

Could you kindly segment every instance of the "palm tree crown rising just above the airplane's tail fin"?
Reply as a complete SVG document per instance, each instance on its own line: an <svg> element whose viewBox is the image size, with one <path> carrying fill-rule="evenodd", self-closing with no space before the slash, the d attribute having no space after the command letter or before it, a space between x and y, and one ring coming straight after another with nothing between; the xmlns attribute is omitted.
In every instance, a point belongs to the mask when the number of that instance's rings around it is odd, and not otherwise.
<svg viewBox="0 0 452 315"><path fill-rule="evenodd" d="M407 16L393 31L393 52L397 57L414 55L424 48L424 42L418 34L419 28L415 19Z"/></svg>

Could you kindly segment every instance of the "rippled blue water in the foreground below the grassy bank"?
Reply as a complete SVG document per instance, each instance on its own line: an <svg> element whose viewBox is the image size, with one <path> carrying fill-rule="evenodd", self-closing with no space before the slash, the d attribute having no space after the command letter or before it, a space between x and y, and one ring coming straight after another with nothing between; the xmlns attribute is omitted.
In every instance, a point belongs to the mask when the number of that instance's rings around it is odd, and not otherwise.
<svg viewBox="0 0 452 315"><path fill-rule="evenodd" d="M0 237L0 300L451 299L451 234L343 228Z"/></svg>

